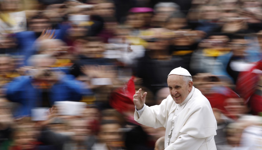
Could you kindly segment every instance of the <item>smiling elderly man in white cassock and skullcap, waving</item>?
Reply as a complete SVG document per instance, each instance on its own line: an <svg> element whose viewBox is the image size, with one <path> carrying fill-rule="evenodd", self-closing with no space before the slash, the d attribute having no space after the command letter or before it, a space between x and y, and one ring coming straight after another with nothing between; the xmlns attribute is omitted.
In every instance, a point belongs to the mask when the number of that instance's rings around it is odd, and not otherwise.
<svg viewBox="0 0 262 150"><path fill-rule="evenodd" d="M216 150L217 123L208 99L193 86L184 68L167 77L170 95L160 105L145 105L146 92L135 93L135 120L154 128L165 127L165 150Z"/></svg>

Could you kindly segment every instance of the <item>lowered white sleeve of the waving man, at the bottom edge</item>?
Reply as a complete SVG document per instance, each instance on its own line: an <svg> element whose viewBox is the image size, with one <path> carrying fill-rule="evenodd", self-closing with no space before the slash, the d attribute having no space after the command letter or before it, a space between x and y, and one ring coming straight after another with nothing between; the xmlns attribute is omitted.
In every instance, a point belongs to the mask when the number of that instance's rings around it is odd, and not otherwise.
<svg viewBox="0 0 262 150"><path fill-rule="evenodd" d="M165 150L198 150L206 138L196 138L188 134L183 134L177 140L169 145Z"/></svg>

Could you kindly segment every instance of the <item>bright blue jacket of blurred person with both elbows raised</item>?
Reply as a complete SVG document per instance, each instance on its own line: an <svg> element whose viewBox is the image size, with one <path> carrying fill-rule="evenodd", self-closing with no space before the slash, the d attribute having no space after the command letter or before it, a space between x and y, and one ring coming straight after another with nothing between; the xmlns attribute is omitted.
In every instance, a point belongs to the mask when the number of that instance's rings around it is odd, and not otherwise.
<svg viewBox="0 0 262 150"><path fill-rule="evenodd" d="M31 109L41 107L41 90L34 88L30 76L20 76L7 85L7 98L12 102L21 103L14 116L30 115ZM83 95L90 95L91 91L84 88L85 85L73 80L72 75L63 75L61 79L52 86L49 94L49 103L55 101L79 101Z"/></svg>

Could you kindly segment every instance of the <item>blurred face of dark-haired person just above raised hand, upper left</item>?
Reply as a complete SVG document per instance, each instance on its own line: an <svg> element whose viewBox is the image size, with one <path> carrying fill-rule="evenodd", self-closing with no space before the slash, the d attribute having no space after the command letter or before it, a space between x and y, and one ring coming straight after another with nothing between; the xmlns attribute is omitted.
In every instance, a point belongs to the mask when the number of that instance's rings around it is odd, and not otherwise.
<svg viewBox="0 0 262 150"><path fill-rule="evenodd" d="M31 31L35 31L37 33L42 32L44 29L51 27L50 21L47 18L37 18L31 19L29 22L29 27Z"/></svg>

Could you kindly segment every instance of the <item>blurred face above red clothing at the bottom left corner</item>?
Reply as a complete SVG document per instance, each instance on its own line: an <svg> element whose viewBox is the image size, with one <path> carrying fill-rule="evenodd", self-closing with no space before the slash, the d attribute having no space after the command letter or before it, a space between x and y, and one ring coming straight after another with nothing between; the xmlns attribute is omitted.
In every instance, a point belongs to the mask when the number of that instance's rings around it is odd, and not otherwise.
<svg viewBox="0 0 262 150"><path fill-rule="evenodd" d="M31 150L36 146L37 137L33 131L20 131L15 135L14 141L22 150Z"/></svg>

